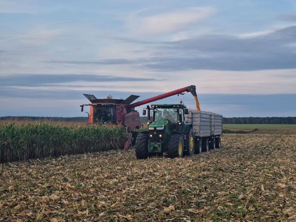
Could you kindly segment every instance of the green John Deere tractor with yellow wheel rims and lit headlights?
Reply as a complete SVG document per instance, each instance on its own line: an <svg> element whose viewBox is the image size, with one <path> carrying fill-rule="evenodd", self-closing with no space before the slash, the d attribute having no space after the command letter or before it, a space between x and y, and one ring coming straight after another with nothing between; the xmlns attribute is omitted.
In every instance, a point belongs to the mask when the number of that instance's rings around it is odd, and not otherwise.
<svg viewBox="0 0 296 222"><path fill-rule="evenodd" d="M150 117L150 110L152 116ZM192 156L194 154L194 133L192 124L185 122L188 109L184 104L152 104L147 106L148 131L142 131L136 138L136 157L146 159L153 155L168 153L168 157ZM143 110L146 115L146 108ZM198 149L196 153L201 152Z"/></svg>

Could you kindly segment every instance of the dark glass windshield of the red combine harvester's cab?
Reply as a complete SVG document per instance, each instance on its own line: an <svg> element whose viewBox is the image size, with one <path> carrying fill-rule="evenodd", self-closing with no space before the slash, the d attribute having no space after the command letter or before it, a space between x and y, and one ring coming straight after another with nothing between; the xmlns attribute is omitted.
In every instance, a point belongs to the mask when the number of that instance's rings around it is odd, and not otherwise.
<svg viewBox="0 0 296 222"><path fill-rule="evenodd" d="M94 123L111 124L115 123L114 106L94 106Z"/></svg>

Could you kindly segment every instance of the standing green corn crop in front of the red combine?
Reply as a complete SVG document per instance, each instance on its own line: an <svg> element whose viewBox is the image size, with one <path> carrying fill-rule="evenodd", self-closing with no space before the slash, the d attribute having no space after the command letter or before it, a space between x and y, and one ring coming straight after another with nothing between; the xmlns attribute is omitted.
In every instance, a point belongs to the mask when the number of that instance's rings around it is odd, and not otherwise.
<svg viewBox="0 0 296 222"><path fill-rule="evenodd" d="M121 126L64 126L51 123L0 125L0 163L116 149Z"/></svg>

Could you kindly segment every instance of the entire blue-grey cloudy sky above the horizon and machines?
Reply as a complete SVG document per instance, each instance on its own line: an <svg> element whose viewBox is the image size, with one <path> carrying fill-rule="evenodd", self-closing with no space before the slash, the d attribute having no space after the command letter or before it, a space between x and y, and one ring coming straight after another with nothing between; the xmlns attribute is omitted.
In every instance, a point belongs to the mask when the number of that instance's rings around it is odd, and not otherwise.
<svg viewBox="0 0 296 222"><path fill-rule="evenodd" d="M0 116L192 84L202 110L296 116L296 1L0 1Z"/></svg>

